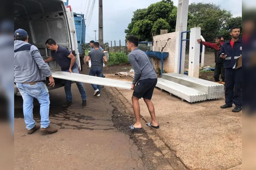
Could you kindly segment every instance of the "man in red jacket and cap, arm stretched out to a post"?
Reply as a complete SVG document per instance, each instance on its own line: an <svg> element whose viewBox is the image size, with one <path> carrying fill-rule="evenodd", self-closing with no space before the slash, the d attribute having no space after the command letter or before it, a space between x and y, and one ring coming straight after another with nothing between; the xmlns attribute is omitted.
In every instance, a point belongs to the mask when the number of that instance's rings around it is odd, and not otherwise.
<svg viewBox="0 0 256 170"><path fill-rule="evenodd" d="M223 66L223 60L219 59L219 51L221 49L221 46L224 43L224 39L221 35L216 36L215 42L203 42L201 39L197 40L198 43L203 44L206 47L210 47L211 49L214 49L215 54L215 69L214 69L214 79L216 83L225 84L225 68ZM219 75L221 75L222 81L219 80Z"/></svg>

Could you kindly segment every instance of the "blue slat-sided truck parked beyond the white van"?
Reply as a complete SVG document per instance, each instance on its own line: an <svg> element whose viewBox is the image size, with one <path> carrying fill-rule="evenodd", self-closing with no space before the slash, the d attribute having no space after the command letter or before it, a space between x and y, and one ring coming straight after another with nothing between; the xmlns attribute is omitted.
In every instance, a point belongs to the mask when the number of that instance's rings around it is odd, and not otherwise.
<svg viewBox="0 0 256 170"><path fill-rule="evenodd" d="M80 63L81 63L81 71L83 70L83 64L84 64L84 54L85 54L85 48L83 47L83 44L85 43L85 20L84 20L84 14L79 13L73 13L74 14L74 20L75 20L75 27L76 27L76 38L77 38L77 45L79 50L79 56L80 56Z"/></svg>

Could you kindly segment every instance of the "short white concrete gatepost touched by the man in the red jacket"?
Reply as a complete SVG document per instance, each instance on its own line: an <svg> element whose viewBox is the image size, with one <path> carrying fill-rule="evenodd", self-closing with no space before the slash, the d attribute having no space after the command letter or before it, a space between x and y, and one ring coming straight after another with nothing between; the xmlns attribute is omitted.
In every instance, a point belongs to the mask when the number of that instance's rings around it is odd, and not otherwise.
<svg viewBox="0 0 256 170"><path fill-rule="evenodd" d="M200 60L200 44L196 41L201 36L201 28L190 29L189 40L189 63L188 63L188 76L199 77L199 60Z"/></svg>

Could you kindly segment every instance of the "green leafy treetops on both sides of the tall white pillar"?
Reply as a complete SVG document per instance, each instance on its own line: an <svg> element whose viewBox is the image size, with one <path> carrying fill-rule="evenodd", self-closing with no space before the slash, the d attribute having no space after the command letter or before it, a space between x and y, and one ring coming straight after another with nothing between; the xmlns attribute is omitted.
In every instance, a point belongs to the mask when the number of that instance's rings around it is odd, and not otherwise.
<svg viewBox="0 0 256 170"><path fill-rule="evenodd" d="M172 0L162 0L149 5L148 8L134 11L133 18L125 30L126 37L130 34L138 36L139 41L151 41L152 34L160 34L161 29L174 32L176 28L177 7ZM216 35L229 37L233 26L242 28L242 17L233 18L230 11L222 9L213 3L191 3L188 7L188 29L201 27L205 38Z"/></svg>

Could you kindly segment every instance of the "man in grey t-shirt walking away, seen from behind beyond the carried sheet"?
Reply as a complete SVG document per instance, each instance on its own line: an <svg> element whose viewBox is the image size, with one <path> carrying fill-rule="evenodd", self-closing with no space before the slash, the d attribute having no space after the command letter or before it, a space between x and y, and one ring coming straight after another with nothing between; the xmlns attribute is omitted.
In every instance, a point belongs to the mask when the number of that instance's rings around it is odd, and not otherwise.
<svg viewBox="0 0 256 170"><path fill-rule="evenodd" d="M102 67L103 67L103 59L105 66L107 67L107 57L104 52L99 51L99 42L94 43L94 50L88 53L86 57L86 64L89 68L89 60L91 59L91 69L89 72L90 76L102 77ZM100 85L91 84L94 89L93 96L100 96Z"/></svg>

